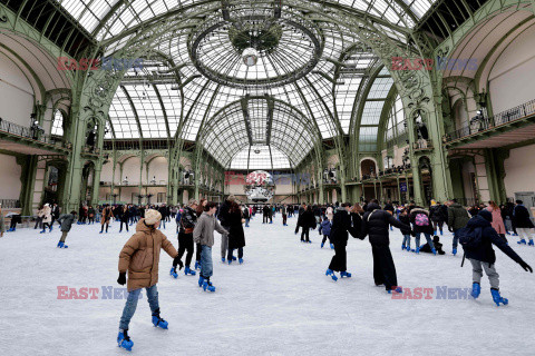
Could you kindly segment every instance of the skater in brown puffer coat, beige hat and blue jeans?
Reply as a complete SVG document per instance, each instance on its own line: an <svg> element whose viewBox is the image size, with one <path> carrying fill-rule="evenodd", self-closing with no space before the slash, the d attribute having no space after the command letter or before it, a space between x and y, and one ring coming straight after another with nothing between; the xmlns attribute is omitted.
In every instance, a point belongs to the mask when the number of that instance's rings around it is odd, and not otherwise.
<svg viewBox="0 0 535 356"><path fill-rule="evenodd" d="M140 219L134 234L125 244L119 254L119 278L117 283L125 285L128 273L128 298L123 310L119 323L119 334L117 343L120 347L132 350L134 342L128 336L128 325L134 316L139 299L142 288L146 289L148 305L153 314L153 325L164 329L168 328L168 323L159 316L158 290L158 265L159 253L164 249L173 260L173 266L183 267L178 259L178 253L173 244L158 230L162 215L153 209L145 212L145 218Z"/></svg>

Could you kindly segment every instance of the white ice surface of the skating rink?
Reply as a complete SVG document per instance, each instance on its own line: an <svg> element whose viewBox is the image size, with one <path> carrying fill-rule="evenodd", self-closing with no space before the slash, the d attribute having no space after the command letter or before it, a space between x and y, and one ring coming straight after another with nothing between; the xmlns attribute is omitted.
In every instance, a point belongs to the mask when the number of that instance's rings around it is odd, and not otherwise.
<svg viewBox="0 0 535 356"><path fill-rule="evenodd" d="M493 304L484 277L477 300L392 300L372 279L371 248L351 238L351 279L324 275L333 251L283 227L246 229L245 263L223 265L220 236L213 249L217 290L204 293L197 276L168 275L172 258L159 265L159 305L169 329L154 328L145 293L130 323L137 355L535 355L535 279L497 250L502 294L508 306ZM39 235L20 229L0 239L0 355L126 355L116 344L124 299L58 299L58 286L99 288L117 285L117 258L132 235L99 235L99 225L75 225L68 249L58 249L60 231ZM130 230L132 231L132 230ZM177 246L175 224L164 233ZM466 288L471 268L446 256L401 251L401 235L390 236L398 281L403 287ZM512 247L535 266L535 248ZM193 267L193 266L192 266ZM436 296L436 291L434 294Z"/></svg>

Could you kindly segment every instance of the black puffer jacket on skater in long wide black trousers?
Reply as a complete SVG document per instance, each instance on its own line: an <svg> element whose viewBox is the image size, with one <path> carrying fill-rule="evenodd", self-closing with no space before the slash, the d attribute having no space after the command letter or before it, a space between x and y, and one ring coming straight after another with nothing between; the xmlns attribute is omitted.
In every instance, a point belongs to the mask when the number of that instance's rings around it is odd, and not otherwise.
<svg viewBox="0 0 535 356"><path fill-rule="evenodd" d="M368 205L368 211L362 217L362 237L366 237L366 235L368 235L371 245L388 246L390 245L388 229L390 225L396 226L399 229L410 231L410 226L407 226L403 222L396 220L396 218L390 212L386 210L380 210L379 205L370 204Z"/></svg>

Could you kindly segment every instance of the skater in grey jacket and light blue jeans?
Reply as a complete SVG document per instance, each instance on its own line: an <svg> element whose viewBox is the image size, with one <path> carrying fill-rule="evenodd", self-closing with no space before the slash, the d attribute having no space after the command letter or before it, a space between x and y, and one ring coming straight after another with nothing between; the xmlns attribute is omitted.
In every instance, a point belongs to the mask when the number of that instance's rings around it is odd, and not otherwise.
<svg viewBox="0 0 535 356"><path fill-rule="evenodd" d="M217 204L210 201L206 204L203 214L197 220L193 230L193 239L201 244L201 274L198 276L198 286L204 290L215 291L214 285L210 281L214 267L212 264L212 246L214 246L214 230L226 237L228 240L228 230L224 229L214 214L217 210Z"/></svg>

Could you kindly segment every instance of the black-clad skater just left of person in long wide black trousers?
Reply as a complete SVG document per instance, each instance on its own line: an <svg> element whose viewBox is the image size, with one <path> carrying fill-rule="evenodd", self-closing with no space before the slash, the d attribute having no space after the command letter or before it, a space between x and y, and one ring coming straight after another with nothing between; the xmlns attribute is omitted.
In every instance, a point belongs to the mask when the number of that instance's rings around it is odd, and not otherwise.
<svg viewBox="0 0 535 356"><path fill-rule="evenodd" d="M329 268L325 271L327 276L335 281L338 277L334 275L335 271L340 273L340 278L351 277L351 274L348 273L348 254L346 247L348 246L348 238L351 234L354 238L361 238L361 220L353 219L351 221L351 204L343 202L339 208L335 209L334 217L332 218L331 226L331 243L334 245L334 256L329 264Z"/></svg>

